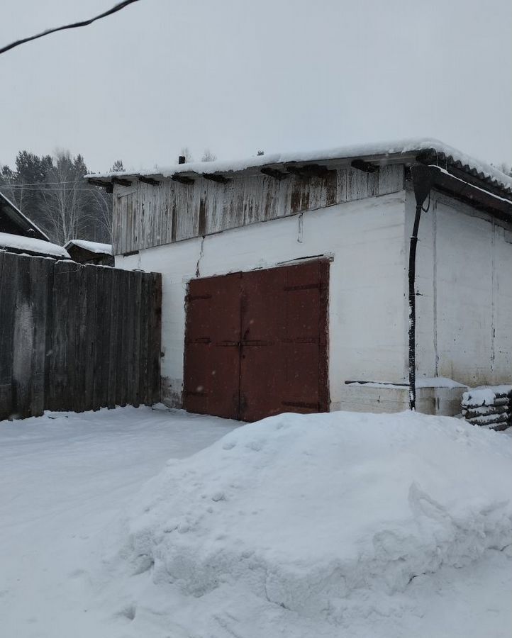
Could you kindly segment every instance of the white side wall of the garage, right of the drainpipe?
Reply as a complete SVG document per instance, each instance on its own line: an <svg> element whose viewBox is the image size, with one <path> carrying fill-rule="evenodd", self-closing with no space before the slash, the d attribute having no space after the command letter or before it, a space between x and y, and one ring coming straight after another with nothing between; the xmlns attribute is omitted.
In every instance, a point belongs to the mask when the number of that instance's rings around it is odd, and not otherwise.
<svg viewBox="0 0 512 638"><path fill-rule="evenodd" d="M406 239L414 216L407 191ZM512 379L512 243L509 230L433 194L422 213L416 263L418 376L462 384Z"/></svg>

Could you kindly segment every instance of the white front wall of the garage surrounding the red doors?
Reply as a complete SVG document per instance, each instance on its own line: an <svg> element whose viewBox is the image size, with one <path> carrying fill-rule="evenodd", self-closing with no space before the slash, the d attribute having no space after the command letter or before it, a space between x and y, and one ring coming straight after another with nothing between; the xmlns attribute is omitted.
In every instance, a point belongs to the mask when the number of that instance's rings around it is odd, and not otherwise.
<svg viewBox="0 0 512 638"><path fill-rule="evenodd" d="M162 393L179 405L187 282L330 255L332 409L350 409L345 380L406 379L405 191L116 257L116 266L162 272Z"/></svg>

